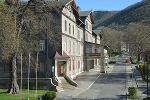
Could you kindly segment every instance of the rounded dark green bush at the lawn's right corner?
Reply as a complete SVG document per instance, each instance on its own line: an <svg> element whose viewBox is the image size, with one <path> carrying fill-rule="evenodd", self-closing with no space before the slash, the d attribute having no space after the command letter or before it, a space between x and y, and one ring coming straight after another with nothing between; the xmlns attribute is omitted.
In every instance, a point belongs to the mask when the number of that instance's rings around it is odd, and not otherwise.
<svg viewBox="0 0 150 100"><path fill-rule="evenodd" d="M42 96L42 100L53 100L56 97L56 92L48 91Z"/></svg>

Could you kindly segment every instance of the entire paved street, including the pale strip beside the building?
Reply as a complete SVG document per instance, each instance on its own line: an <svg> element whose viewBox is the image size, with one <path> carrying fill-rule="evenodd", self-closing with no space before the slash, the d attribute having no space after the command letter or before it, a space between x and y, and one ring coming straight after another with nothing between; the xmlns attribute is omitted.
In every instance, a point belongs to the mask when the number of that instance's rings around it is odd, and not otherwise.
<svg viewBox="0 0 150 100"><path fill-rule="evenodd" d="M131 66L126 65L124 59L126 57L119 57L119 64L114 65L109 73L99 73L99 67L83 73L76 80L79 84L77 88L58 92L55 100L127 100L126 83L129 75L126 71Z"/></svg>

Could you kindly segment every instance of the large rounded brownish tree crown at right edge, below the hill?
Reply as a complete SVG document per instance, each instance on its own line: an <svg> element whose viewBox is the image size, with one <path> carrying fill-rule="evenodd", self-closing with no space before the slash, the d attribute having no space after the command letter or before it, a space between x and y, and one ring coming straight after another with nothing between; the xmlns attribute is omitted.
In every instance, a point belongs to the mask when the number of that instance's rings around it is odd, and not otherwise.
<svg viewBox="0 0 150 100"><path fill-rule="evenodd" d="M130 53L137 55L150 47L149 26L130 23L124 32L123 41L129 44Z"/></svg>

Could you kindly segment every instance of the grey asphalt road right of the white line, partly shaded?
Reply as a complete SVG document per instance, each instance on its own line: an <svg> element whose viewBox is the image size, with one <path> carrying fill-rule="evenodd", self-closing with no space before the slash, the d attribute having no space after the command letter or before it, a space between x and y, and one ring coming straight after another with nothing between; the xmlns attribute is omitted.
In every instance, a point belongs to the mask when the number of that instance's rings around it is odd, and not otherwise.
<svg viewBox="0 0 150 100"><path fill-rule="evenodd" d="M126 65L115 65L101 74L94 84L72 100L126 100Z"/></svg>

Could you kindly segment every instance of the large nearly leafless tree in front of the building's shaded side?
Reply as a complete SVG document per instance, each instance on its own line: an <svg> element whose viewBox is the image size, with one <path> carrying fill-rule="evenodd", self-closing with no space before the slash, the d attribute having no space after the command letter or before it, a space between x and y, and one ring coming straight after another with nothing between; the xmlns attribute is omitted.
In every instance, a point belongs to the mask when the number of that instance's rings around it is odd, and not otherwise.
<svg viewBox="0 0 150 100"><path fill-rule="evenodd" d="M3 10L0 9L2 13L0 15L1 60L8 62L11 68L8 92L17 94L19 93L17 84L18 54L23 53L23 61L26 63L27 55L31 52L31 60L35 62L35 52L38 52L40 38L47 39L49 45L55 44L51 48L52 52L59 48L61 31L58 24L61 20L57 20L56 17L60 17L61 9L57 3L49 5L38 0L29 0L27 4L23 5L20 5L18 0L5 0L5 3L8 6L0 6L0 8L3 7ZM33 10L30 7L31 3L35 5L41 3L40 12L35 12L36 8ZM55 14L52 14L54 12ZM34 65L35 63L33 63Z"/></svg>

